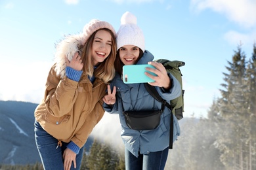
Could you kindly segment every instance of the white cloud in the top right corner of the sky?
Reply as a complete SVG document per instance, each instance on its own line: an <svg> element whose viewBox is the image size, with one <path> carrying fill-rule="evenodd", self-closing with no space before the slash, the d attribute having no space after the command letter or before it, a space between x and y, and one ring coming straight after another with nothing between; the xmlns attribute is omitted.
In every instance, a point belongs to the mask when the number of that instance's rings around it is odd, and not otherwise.
<svg viewBox="0 0 256 170"><path fill-rule="evenodd" d="M228 20L245 28L256 25L255 0L191 0L191 5L193 9L199 11L212 9L215 12L225 14Z"/></svg>

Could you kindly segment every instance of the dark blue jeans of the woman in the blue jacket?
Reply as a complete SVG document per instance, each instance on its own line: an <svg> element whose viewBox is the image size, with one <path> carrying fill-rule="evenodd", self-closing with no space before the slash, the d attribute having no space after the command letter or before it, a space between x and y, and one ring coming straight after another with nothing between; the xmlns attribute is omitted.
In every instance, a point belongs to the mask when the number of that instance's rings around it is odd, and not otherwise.
<svg viewBox="0 0 256 170"><path fill-rule="evenodd" d="M125 149L126 170L163 170L167 161L169 148L149 154L140 154L138 158Z"/></svg>

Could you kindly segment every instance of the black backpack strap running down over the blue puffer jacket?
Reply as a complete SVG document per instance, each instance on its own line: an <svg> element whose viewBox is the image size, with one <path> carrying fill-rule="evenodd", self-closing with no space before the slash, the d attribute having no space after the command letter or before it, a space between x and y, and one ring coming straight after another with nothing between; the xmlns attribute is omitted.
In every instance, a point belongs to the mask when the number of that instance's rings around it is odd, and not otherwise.
<svg viewBox="0 0 256 170"><path fill-rule="evenodd" d="M144 86L148 91L148 93L150 93L150 95L154 97L154 99L156 99L157 101L160 101L163 105L165 105L170 110L172 110L171 105L159 95L158 91L154 86L151 86L148 83L144 83ZM171 112L171 125L170 125L170 137L169 137L169 149L172 149L172 148L173 148L173 112Z"/></svg>

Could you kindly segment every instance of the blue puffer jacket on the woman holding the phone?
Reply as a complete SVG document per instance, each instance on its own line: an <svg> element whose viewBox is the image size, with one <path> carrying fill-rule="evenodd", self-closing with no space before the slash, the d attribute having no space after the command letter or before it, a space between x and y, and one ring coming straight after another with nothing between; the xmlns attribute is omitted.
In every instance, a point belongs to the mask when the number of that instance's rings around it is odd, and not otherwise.
<svg viewBox="0 0 256 170"><path fill-rule="evenodd" d="M137 64L148 63L152 61L154 56L145 51L142 58ZM169 92L163 90L163 88L156 87L158 93L160 93L163 99L169 101L175 99L181 94L181 85L179 81L169 74L172 79L173 85ZM121 122L121 137L125 148L127 148L131 153L138 157L140 154L148 154L149 152L157 152L164 150L169 146L169 129L170 129L170 116L171 110L163 110L161 114L160 125L153 130L138 131L130 129L125 123L125 117L123 116L123 108L125 111L128 110L160 110L161 103L156 101L144 87L144 84L124 84L121 80L120 75L116 75L111 82L111 88L116 86L116 103L113 106L106 105L104 103L104 109L109 113L119 114L119 119ZM122 103L123 102L123 107ZM177 118L174 117L174 127L173 127L173 142L177 140L180 135L180 127Z"/></svg>

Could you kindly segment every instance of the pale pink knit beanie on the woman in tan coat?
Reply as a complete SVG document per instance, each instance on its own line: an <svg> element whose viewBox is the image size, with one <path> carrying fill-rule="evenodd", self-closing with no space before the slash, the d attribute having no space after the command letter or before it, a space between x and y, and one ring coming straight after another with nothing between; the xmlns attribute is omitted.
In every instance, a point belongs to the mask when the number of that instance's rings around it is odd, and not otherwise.
<svg viewBox="0 0 256 170"><path fill-rule="evenodd" d="M114 36L116 37L116 31L111 24L109 24L108 22L93 19L83 27L82 44L84 45L85 42L95 31L102 28L110 29L110 31L112 31L114 33Z"/></svg>

